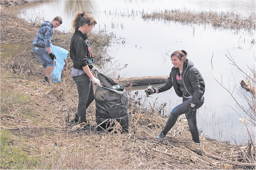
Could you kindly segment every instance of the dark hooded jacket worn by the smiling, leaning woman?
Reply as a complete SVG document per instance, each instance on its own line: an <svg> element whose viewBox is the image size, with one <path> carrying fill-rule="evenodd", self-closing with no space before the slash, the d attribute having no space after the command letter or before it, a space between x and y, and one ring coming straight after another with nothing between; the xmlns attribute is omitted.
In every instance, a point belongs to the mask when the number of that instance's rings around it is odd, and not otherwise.
<svg viewBox="0 0 256 170"><path fill-rule="evenodd" d="M179 72L179 68L172 67L172 71L170 73L169 78L166 83L162 86L158 86L158 92L164 92L172 88L175 89L176 94L179 97L182 97L183 94L180 90L180 85L177 84L176 75ZM186 98L192 97L191 104L197 104L198 99L204 95L205 83L204 78L201 73L194 67L194 63L190 60L186 60L183 63L183 71L181 73L183 84L185 86L186 91L190 96L185 96Z"/></svg>

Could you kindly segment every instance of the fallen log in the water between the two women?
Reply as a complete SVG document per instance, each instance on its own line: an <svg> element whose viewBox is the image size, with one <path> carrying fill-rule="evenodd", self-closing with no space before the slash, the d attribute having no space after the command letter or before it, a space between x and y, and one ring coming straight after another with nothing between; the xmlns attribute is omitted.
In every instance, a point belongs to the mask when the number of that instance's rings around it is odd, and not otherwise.
<svg viewBox="0 0 256 170"><path fill-rule="evenodd" d="M115 80L118 84L122 86L142 86L149 84L160 84L165 83L169 76L146 76L146 77L136 77L136 78L121 78Z"/></svg>

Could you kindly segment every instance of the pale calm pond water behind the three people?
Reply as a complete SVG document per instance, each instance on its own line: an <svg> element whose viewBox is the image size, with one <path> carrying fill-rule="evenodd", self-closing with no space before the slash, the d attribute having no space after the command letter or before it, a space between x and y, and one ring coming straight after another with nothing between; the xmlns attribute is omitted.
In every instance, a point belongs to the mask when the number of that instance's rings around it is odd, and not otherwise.
<svg viewBox="0 0 256 170"><path fill-rule="evenodd" d="M255 30L235 31L214 29L208 24L143 20L141 14L143 11L187 9L237 12L246 17L255 12L255 0L56 0L36 1L18 8L23 12L20 17L32 21L37 17L51 21L53 17L61 16L63 24L57 30L62 32L70 32L77 11L92 13L97 21L94 31L106 29L123 42L113 43L108 49L112 61L117 61L109 64L110 67L127 65L117 72L123 78L169 75L173 66L169 56L176 50L185 49L206 82L205 103L198 109L198 129L209 138L247 143L246 127L238 115L244 117L244 112L236 107L233 98L217 81L231 91L234 89L233 96L247 107L237 94L244 75L230 64L226 55L232 57L244 72L250 73L248 66L255 67ZM133 93L138 91L145 99L145 105L155 103L160 106L166 102L166 114L181 103L173 89L145 98L145 88L134 87ZM255 139L255 127L250 125L249 129Z"/></svg>

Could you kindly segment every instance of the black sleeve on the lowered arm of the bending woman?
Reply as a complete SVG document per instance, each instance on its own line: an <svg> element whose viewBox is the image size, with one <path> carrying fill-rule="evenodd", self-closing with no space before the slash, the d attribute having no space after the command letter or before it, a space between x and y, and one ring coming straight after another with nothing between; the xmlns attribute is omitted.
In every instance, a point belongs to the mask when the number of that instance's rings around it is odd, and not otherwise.
<svg viewBox="0 0 256 170"><path fill-rule="evenodd" d="M193 94L191 104L195 105L198 103L198 98L200 94L200 84L198 78L198 70L195 68L190 68L188 72L189 84L192 86Z"/></svg>

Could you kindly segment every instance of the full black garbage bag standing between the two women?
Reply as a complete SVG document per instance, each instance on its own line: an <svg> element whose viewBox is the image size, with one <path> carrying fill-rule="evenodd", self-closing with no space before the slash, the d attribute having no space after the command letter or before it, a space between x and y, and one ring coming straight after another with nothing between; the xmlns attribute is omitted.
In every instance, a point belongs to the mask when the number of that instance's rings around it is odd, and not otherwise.
<svg viewBox="0 0 256 170"><path fill-rule="evenodd" d="M128 113L128 94L125 88L102 73L96 72L96 77L102 84L102 87L97 87L94 94L97 125L107 119L116 119L122 130L128 132L130 116ZM100 126L107 129L110 126L109 121L105 121Z"/></svg>

